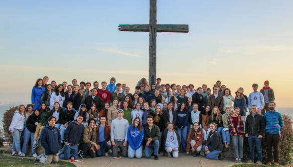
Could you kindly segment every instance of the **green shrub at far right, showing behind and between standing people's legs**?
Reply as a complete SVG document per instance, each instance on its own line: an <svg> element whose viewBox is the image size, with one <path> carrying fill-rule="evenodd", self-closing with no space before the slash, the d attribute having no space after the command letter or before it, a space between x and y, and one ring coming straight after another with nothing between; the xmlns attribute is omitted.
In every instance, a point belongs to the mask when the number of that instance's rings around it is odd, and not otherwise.
<svg viewBox="0 0 293 167"><path fill-rule="evenodd" d="M292 151L292 140L293 140L293 129L292 129L292 117L281 113L284 120L284 127L281 130L281 140L280 140L280 164L287 165L292 161L290 153ZM262 139L262 150L263 150L263 164L267 163L268 156L267 156L267 142L266 136L264 135ZM273 149L274 151L274 149ZM257 161L257 151L255 148L255 162ZM249 156L249 144L248 139L244 138L243 144L243 156L246 160L250 159ZM274 162L274 154L272 162Z"/></svg>

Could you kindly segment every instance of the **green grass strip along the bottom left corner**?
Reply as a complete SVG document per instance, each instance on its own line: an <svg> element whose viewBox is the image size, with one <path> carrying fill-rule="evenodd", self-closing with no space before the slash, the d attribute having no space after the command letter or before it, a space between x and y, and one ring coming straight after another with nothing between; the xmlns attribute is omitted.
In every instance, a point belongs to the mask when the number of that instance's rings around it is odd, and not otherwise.
<svg viewBox="0 0 293 167"><path fill-rule="evenodd" d="M26 158L12 158L7 156L0 156L0 166L1 167L40 167L44 166L40 162L35 162L33 159ZM64 161L59 161L58 163L53 163L50 165L51 167L75 167L75 165L71 163L67 163Z"/></svg>

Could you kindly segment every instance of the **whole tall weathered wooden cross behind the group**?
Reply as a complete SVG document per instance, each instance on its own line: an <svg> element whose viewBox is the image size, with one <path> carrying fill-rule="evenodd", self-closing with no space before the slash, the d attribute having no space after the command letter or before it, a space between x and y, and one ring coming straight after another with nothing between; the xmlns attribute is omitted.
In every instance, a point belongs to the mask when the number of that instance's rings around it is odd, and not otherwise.
<svg viewBox="0 0 293 167"><path fill-rule="evenodd" d="M149 24L120 24L119 31L149 32L149 84L156 80L156 33L188 33L186 24L156 24L156 0L149 0Z"/></svg>

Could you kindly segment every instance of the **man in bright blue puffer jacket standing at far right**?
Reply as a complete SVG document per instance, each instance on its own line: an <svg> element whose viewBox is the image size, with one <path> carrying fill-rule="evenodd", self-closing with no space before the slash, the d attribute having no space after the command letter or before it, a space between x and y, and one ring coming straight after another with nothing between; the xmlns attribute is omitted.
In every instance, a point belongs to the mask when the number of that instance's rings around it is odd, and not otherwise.
<svg viewBox="0 0 293 167"><path fill-rule="evenodd" d="M280 138L281 129L284 121L282 115L275 110L276 103L271 101L269 103L270 111L264 114L264 121L266 124L266 141L268 145L268 162L271 165L272 161L272 147L274 146L274 165L279 165L280 160Z"/></svg>

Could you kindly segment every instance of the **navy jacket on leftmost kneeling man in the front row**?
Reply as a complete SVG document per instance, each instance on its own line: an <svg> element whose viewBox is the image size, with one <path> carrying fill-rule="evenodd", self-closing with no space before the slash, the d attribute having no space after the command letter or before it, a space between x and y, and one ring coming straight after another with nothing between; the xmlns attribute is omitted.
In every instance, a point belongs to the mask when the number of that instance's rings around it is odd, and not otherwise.
<svg viewBox="0 0 293 167"><path fill-rule="evenodd" d="M55 155L61 147L61 135L59 129L48 123L41 134L41 145L45 149L45 155Z"/></svg>

